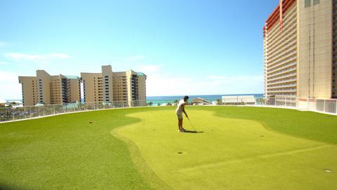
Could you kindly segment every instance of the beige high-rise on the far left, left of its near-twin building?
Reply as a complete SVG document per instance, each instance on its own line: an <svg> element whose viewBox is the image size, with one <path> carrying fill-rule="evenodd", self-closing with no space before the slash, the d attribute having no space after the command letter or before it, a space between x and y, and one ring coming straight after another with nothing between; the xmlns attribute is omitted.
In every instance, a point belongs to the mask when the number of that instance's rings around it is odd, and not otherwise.
<svg viewBox="0 0 337 190"><path fill-rule="evenodd" d="M81 102L81 80L78 76L51 76L37 70L37 76L19 76L25 106Z"/></svg>

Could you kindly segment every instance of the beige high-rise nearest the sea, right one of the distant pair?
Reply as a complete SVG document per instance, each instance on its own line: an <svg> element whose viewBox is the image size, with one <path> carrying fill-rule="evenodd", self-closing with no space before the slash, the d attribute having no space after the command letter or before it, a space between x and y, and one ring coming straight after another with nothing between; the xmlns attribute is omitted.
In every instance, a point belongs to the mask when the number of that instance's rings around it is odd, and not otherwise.
<svg viewBox="0 0 337 190"><path fill-rule="evenodd" d="M110 65L102 73L81 73L84 102L146 100L146 75L140 72L112 72Z"/></svg>

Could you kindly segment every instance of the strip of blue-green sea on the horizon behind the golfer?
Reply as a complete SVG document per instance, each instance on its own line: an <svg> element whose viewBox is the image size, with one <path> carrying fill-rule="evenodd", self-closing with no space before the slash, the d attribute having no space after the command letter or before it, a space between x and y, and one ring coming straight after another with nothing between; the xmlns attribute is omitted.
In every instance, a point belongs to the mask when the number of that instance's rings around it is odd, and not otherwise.
<svg viewBox="0 0 337 190"><path fill-rule="evenodd" d="M253 95L254 97L263 97L263 94L236 94L236 95ZM204 98L210 102L216 101L217 99L222 99L224 95L189 95L190 100L196 97ZM164 103L173 103L175 100L183 99L184 95L176 96L148 96L146 97L146 102L153 104L164 104Z"/></svg>

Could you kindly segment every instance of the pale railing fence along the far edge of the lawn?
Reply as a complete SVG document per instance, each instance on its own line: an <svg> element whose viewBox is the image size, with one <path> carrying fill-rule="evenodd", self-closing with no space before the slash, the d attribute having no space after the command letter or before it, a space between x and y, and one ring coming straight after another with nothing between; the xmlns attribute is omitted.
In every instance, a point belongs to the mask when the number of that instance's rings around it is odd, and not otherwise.
<svg viewBox="0 0 337 190"><path fill-rule="evenodd" d="M153 100L152 100L153 101ZM161 100L165 104L174 104L175 100ZM211 100L210 100L211 101ZM261 107L284 107L299 110L317 111L325 114L337 115L337 100L323 100L308 97L255 97L255 103L251 99L240 99L241 102L220 102L221 105L261 106ZM219 102L217 102L219 103ZM100 109L117 109L126 107L153 106L146 100L117 101L117 102L86 102L72 104L53 104L41 107L0 107L0 123L6 121L19 121L27 118L51 116L77 111L90 111ZM156 104L157 105L157 104Z"/></svg>

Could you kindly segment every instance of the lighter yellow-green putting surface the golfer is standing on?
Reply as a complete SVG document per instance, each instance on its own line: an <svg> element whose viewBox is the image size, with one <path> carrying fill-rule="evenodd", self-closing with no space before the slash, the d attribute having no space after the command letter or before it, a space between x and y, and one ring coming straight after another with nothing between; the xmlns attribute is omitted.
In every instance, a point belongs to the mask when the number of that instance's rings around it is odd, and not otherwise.
<svg viewBox="0 0 337 190"><path fill-rule="evenodd" d="M128 114L141 121L112 131L152 186L161 179L172 189L337 189L336 173L325 171L337 170L337 146L211 111L189 115L204 133L178 133L171 110ZM186 119L185 128L193 130Z"/></svg>

